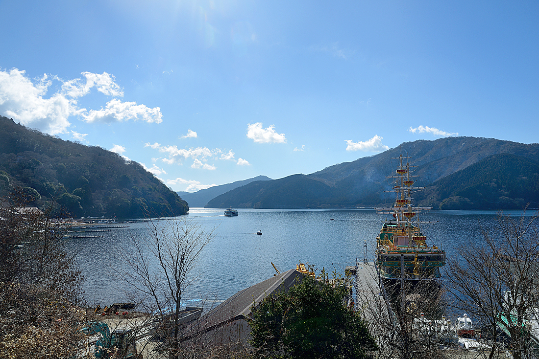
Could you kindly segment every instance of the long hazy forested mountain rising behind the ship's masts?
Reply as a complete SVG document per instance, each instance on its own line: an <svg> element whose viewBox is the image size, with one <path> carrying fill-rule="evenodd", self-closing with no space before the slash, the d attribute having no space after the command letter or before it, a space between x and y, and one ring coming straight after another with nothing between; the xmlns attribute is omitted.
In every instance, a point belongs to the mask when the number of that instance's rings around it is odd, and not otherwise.
<svg viewBox="0 0 539 359"><path fill-rule="evenodd" d="M330 166L309 175L295 175L293 180L292 177L286 177L262 183L253 182L218 196L211 200L207 207L285 208L287 207L283 205L285 201L288 203L287 208L389 205L393 199L390 194L384 193L384 190L391 187L391 182L385 176L394 173L397 160L392 158L398 157L401 153L412 157L412 164L418 166L414 173L420 175L416 185L432 186L434 182L494 154L509 153L535 162L539 158L539 144L526 145L475 137L417 140L403 143L375 156ZM313 181L320 182L316 186L319 194L312 191ZM288 182L293 184L294 191L287 187ZM433 204L439 207L449 197L451 196L438 198L434 195ZM496 199L499 197L498 195ZM477 205L486 206L486 203L480 201ZM508 203L510 204L507 206L511 208L521 208L519 200L515 199Z"/></svg>

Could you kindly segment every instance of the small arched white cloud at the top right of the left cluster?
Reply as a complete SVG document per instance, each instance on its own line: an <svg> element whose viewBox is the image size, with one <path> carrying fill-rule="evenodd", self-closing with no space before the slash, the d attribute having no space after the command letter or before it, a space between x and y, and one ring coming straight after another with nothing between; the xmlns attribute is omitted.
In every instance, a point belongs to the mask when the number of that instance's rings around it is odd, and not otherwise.
<svg viewBox="0 0 539 359"><path fill-rule="evenodd" d="M107 96L123 96L123 91L120 89L120 86L114 82L116 78L113 75L107 74L106 72L103 72L102 74L83 72L81 75L86 78L86 83L82 83L81 79L65 81L62 85L64 94L71 97L80 97L87 95L92 87L97 87L100 93Z"/></svg>

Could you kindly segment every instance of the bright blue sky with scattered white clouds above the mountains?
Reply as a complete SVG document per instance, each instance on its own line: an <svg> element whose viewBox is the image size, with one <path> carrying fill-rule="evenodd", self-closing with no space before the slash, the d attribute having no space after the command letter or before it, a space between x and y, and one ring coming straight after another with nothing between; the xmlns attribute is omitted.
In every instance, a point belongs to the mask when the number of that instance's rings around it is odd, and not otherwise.
<svg viewBox="0 0 539 359"><path fill-rule="evenodd" d="M0 114L175 191L537 142L537 2L0 1Z"/></svg>

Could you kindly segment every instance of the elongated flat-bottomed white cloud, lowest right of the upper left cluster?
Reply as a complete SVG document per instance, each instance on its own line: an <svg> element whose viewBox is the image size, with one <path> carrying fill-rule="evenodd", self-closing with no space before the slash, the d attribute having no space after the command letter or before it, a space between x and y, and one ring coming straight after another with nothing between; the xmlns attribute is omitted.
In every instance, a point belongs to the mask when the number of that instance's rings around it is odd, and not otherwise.
<svg viewBox="0 0 539 359"><path fill-rule="evenodd" d="M136 102L122 102L116 98L107 102L105 109L90 110L88 114L82 114L82 118L86 122L106 123L128 121L129 119L146 121L148 123L163 122L161 108L149 108L143 104L137 105Z"/></svg>

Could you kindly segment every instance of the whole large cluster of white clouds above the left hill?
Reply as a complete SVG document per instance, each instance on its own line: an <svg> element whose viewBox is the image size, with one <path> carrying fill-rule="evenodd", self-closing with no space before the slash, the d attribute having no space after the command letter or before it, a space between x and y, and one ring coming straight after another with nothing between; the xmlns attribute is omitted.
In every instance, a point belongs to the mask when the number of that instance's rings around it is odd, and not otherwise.
<svg viewBox="0 0 539 359"><path fill-rule="evenodd" d="M81 74L84 79L64 81L58 76L46 74L38 79L30 79L17 68L9 71L0 69L0 113L51 135L67 132L71 126L68 121L70 116L78 116L87 122L110 123L130 119L162 122L160 108L148 108L116 98L107 102L105 109L87 111L79 108L78 98L89 94L92 88L107 96L123 96L113 75L106 72ZM53 81L61 83L60 89L54 94L47 94Z"/></svg>

